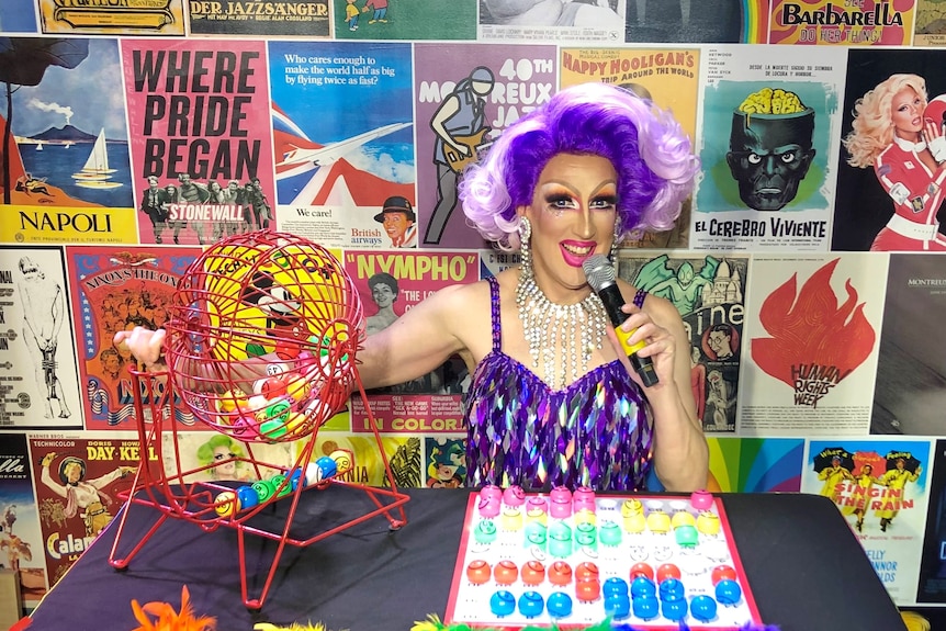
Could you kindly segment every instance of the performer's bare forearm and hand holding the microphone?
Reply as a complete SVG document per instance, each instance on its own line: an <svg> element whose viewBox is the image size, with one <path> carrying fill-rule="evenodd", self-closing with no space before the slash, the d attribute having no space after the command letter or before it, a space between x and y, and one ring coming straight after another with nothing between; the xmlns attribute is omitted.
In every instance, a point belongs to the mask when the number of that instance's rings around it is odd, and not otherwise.
<svg viewBox="0 0 946 631"><path fill-rule="evenodd" d="M673 304L653 295L647 296L643 313L633 305L624 305L623 309L631 317L621 328L629 331L638 328L631 343L650 340L638 354L653 359L660 378L660 383L644 388L654 413L653 459L657 477L667 491L705 488L709 449L690 390L690 341L683 319Z"/></svg>

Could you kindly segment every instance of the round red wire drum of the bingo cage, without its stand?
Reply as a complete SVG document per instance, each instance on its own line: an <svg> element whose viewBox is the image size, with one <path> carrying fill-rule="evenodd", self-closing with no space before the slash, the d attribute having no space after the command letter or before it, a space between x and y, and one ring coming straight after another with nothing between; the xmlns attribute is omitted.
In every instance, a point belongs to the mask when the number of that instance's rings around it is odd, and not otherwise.
<svg viewBox="0 0 946 631"><path fill-rule="evenodd" d="M199 420L240 440L311 433L342 409L364 339L358 291L328 250L285 233L235 235L207 248L181 274L165 325L176 394ZM247 393L244 395L243 393ZM318 402L314 405L314 402ZM259 426L288 415L292 431ZM279 436L275 436L279 433Z"/></svg>

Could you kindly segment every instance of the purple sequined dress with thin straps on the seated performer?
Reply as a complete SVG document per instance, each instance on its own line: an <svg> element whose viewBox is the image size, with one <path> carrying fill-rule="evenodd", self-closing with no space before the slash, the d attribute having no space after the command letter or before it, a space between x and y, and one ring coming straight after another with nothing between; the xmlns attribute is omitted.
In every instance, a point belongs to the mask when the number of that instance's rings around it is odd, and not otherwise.
<svg viewBox="0 0 946 631"><path fill-rule="evenodd" d="M464 414L466 485L640 491L651 466L650 406L620 360L553 391L502 350L499 283L489 279L493 350L473 373ZM642 304L644 293L634 297Z"/></svg>

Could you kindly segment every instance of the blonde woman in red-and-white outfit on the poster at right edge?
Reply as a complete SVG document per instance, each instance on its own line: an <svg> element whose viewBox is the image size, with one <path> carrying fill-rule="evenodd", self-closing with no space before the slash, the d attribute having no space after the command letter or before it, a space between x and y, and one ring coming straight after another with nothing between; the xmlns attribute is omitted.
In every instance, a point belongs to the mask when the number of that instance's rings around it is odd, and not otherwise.
<svg viewBox="0 0 946 631"><path fill-rule="evenodd" d="M944 105L944 97L928 102L926 81L909 74L891 75L855 103L847 164L872 166L894 206L874 251L946 250L936 219L946 180Z"/></svg>

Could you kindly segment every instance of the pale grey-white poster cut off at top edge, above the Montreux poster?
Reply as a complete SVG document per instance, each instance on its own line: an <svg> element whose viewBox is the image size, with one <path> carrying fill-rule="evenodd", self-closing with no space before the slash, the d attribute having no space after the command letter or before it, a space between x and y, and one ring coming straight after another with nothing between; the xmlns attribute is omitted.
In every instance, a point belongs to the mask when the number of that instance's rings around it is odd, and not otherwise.
<svg viewBox="0 0 946 631"><path fill-rule="evenodd" d="M517 0L480 0L477 40L497 42L623 42L627 5L633 1L519 2Z"/></svg>

